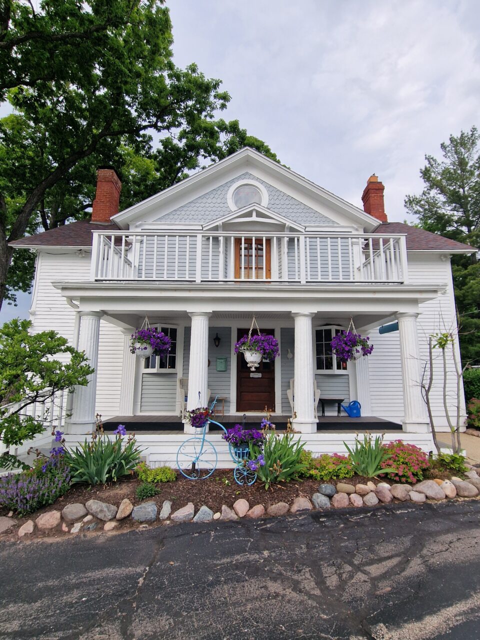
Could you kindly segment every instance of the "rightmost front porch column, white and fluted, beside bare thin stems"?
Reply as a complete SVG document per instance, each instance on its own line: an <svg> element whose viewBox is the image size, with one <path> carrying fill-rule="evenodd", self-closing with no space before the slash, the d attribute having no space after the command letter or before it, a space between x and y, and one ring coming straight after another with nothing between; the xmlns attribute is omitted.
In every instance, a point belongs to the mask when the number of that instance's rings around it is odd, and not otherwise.
<svg viewBox="0 0 480 640"><path fill-rule="evenodd" d="M422 367L417 332L418 316L419 314L415 313L397 314L403 383L404 419L402 426L404 431L428 433L430 425L420 387Z"/></svg>

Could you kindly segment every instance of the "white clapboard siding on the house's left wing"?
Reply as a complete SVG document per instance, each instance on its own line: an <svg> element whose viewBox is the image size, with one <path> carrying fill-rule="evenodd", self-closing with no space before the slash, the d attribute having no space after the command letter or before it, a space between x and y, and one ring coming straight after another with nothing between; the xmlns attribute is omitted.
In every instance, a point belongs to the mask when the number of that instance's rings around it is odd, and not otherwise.
<svg viewBox="0 0 480 640"><path fill-rule="evenodd" d="M52 282L65 278L90 279L90 256L78 253L48 253L38 255L35 293L32 301L32 330L35 333L54 329L73 339L75 311L67 305L65 298ZM112 324L100 321L99 365L97 368L96 411L104 419L118 415L120 402L120 380L122 377L124 337Z"/></svg>

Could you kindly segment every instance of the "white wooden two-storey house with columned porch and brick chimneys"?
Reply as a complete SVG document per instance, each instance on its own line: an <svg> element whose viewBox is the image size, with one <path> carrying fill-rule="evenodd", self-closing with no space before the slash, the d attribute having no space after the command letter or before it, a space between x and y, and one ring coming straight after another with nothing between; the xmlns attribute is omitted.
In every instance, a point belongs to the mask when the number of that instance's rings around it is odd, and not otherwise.
<svg viewBox="0 0 480 640"><path fill-rule="evenodd" d="M64 403L70 442L100 413L137 425L152 463L171 462L191 429L180 419L185 397L195 408L200 392L202 404L219 396L220 421L246 414L259 422L265 407L279 424L293 416L317 452L342 450L365 424L332 431L346 420L336 400L353 399L369 426L401 425L387 438L432 448L420 391L428 335L455 326L450 257L470 246L388 223L376 176L362 211L250 148L122 212L120 189L113 170L99 170L91 221L13 243L38 254L33 330L54 328L95 367L88 387ZM254 376L234 353L253 314L280 342L280 356ZM168 358L130 353L145 316L170 335ZM344 365L330 340L351 319L374 351ZM397 332L380 335L396 321ZM455 413L453 376L449 394ZM440 367L433 409L447 429Z"/></svg>

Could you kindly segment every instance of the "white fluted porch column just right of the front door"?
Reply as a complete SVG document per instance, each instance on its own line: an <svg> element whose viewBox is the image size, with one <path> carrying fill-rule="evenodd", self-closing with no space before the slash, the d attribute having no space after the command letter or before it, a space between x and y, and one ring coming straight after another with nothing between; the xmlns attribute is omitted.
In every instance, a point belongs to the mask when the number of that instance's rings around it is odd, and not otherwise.
<svg viewBox="0 0 480 640"><path fill-rule="evenodd" d="M314 345L310 313L293 313L295 319L294 404L295 429L301 433L316 433L314 413Z"/></svg>

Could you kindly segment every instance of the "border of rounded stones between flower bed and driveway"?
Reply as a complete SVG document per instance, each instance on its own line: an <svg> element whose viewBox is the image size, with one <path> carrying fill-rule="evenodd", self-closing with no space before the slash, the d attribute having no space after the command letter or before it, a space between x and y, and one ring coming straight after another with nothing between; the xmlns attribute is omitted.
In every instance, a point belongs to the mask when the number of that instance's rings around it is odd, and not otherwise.
<svg viewBox="0 0 480 640"><path fill-rule="evenodd" d="M413 487L411 484L388 484L382 482L374 484L349 484L348 481L336 484L319 484L317 493L312 499L297 497L289 506L286 502L276 502L265 510L262 504L250 507L247 500L236 500L232 508L222 505L221 511L213 513L206 505L198 509L192 502L172 513L172 502L164 500L159 509L156 502L142 502L134 507L127 498L122 500L118 508L114 504L100 500L88 500L67 504L61 511L52 510L42 513L33 520L28 520L19 529L19 538L31 536L36 530L52 531L61 524L64 533L79 533L81 531L113 531L120 521L131 518L140 522L142 527L148 524L162 522L163 524L177 524L180 522L212 522L213 520L233 521L240 518L262 518L263 516L282 516L287 513L301 513L312 509L342 509L346 507L373 507L377 504L390 504L396 499L401 502L416 502L421 504L426 500L447 500L456 497L476 498L480 493L480 476L475 468L465 473L467 480L452 477L451 480L424 480ZM15 524L10 512L8 517L0 518L0 533L9 531Z"/></svg>

